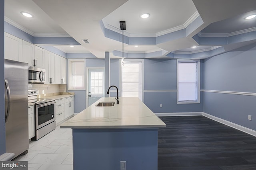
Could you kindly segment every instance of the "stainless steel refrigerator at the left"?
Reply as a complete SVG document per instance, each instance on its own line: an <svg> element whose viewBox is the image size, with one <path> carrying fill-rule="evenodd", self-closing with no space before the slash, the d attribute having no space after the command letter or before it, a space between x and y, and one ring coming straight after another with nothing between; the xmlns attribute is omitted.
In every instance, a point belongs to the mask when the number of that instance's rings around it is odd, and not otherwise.
<svg viewBox="0 0 256 170"><path fill-rule="evenodd" d="M28 151L28 64L4 60L6 152Z"/></svg>

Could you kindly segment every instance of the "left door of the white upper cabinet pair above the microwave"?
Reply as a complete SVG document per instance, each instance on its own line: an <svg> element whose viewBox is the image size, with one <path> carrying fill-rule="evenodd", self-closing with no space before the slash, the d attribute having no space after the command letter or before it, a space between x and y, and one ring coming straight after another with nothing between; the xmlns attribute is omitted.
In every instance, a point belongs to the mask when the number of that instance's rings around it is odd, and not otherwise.
<svg viewBox="0 0 256 170"><path fill-rule="evenodd" d="M35 45L22 40L22 62L34 66Z"/></svg>

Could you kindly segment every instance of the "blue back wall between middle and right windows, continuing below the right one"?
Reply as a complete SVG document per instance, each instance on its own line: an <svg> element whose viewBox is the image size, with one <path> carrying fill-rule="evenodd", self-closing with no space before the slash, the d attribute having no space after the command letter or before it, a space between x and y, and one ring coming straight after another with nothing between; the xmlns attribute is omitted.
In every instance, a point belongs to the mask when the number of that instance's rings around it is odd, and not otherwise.
<svg viewBox="0 0 256 170"><path fill-rule="evenodd" d="M144 90L156 90L144 92L144 103L154 113L202 112L202 102L200 104L177 104L176 59L144 59ZM159 90L173 91L161 92Z"/></svg>

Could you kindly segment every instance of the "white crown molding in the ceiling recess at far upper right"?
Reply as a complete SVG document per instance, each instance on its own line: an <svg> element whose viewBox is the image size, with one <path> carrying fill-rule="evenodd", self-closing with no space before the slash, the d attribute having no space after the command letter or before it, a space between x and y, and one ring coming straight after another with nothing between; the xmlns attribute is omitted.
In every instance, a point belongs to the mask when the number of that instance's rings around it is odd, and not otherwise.
<svg viewBox="0 0 256 170"><path fill-rule="evenodd" d="M201 31L198 33L199 37L231 37L234 35L240 35L244 33L249 33L256 31L256 27L248 28L248 29L243 29L240 31L234 31L232 33L202 33Z"/></svg>

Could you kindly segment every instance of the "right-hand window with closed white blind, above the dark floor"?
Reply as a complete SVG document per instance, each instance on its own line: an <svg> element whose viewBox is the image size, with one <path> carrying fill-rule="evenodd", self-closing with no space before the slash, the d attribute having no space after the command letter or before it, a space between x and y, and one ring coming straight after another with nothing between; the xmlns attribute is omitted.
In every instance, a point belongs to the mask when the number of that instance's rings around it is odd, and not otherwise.
<svg viewBox="0 0 256 170"><path fill-rule="evenodd" d="M199 60L177 60L177 103L200 103Z"/></svg>

